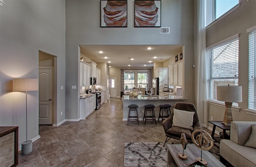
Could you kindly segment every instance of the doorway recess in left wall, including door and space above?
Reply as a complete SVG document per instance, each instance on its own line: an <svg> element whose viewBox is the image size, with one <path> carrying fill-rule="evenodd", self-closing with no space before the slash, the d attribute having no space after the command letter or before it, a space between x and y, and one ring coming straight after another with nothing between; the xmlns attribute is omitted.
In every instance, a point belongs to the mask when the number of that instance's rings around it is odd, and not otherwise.
<svg viewBox="0 0 256 167"><path fill-rule="evenodd" d="M53 125L55 103L56 56L39 51L39 125Z"/></svg>

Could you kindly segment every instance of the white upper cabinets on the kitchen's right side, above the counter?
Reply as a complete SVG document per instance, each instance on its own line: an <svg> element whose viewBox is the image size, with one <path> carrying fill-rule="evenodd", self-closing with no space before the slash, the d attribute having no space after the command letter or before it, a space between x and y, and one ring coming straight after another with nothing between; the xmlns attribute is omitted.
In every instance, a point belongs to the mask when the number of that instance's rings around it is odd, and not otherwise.
<svg viewBox="0 0 256 167"><path fill-rule="evenodd" d="M183 82L183 63L179 61L169 65L169 84L174 86L182 86Z"/></svg>

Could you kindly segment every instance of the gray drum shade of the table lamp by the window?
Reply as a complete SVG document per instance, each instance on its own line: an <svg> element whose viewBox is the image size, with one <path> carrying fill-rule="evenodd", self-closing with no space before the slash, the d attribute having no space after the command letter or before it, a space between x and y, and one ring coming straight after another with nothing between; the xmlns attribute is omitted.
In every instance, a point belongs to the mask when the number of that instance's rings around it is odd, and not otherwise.
<svg viewBox="0 0 256 167"><path fill-rule="evenodd" d="M225 102L242 102L242 86L217 86L217 100Z"/></svg>

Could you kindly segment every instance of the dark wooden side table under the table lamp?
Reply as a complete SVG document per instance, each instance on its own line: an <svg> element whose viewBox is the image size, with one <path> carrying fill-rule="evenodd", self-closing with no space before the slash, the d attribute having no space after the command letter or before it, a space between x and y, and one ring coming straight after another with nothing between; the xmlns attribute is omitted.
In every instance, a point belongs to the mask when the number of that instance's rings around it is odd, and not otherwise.
<svg viewBox="0 0 256 167"><path fill-rule="evenodd" d="M226 139L225 134L226 134L226 131L230 131L230 125L226 126L226 125L222 124L222 121L208 121L208 122L213 125L211 136L212 136L212 139L214 140L214 145L216 147L220 148L215 143L220 143L221 139ZM221 137L214 137L216 126L219 127L220 129L222 129L222 138Z"/></svg>

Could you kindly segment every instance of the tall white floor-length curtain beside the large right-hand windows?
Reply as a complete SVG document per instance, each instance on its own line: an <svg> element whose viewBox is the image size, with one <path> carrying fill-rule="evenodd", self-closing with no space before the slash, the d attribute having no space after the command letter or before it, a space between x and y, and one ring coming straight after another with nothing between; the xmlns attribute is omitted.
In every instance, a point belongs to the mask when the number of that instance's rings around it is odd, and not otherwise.
<svg viewBox="0 0 256 167"><path fill-rule="evenodd" d="M198 1L198 48L197 48L196 108L200 123L208 127L206 60L206 0Z"/></svg>

